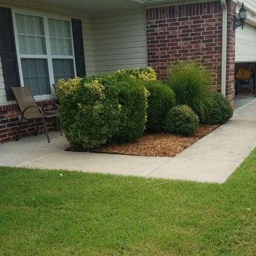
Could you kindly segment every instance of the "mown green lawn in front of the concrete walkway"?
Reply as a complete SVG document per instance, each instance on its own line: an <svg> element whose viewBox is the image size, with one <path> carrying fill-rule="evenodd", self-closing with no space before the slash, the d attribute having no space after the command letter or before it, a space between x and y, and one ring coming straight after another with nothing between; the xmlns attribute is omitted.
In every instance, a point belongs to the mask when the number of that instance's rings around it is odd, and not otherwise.
<svg viewBox="0 0 256 256"><path fill-rule="evenodd" d="M0 255L256 255L255 211L256 150L224 184L2 167Z"/></svg>

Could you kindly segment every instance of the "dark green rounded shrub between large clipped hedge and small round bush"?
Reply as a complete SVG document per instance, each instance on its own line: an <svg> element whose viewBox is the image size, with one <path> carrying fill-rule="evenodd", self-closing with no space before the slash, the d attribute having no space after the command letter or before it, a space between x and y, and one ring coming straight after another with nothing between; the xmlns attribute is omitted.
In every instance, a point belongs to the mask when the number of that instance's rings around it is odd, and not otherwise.
<svg viewBox="0 0 256 256"><path fill-rule="evenodd" d="M150 131L162 130L165 116L175 106L175 93L161 81L145 81L149 92L146 128Z"/></svg>

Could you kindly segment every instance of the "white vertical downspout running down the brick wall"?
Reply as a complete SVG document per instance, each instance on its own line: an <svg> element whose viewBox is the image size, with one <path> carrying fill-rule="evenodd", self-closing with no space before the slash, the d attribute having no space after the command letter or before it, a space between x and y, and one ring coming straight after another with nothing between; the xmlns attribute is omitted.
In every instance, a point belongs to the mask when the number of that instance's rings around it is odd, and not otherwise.
<svg viewBox="0 0 256 256"><path fill-rule="evenodd" d="M221 93L226 96L226 66L227 66L227 4L221 0L222 6L222 63L221 63Z"/></svg>

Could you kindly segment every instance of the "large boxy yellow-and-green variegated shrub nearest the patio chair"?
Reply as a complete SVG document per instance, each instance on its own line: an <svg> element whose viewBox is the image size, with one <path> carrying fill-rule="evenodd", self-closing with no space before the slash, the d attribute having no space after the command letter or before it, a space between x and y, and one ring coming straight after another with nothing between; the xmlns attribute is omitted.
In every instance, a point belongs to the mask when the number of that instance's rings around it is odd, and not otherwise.
<svg viewBox="0 0 256 256"><path fill-rule="evenodd" d="M61 79L58 94L59 111L70 144L94 148L118 133L119 88L111 76Z"/></svg>

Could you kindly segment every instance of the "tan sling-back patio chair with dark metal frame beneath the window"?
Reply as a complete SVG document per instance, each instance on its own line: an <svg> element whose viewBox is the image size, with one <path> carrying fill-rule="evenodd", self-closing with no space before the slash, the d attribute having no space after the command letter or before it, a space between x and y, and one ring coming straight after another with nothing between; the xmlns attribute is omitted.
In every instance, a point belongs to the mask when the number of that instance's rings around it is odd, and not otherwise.
<svg viewBox="0 0 256 256"><path fill-rule="evenodd" d="M37 119L38 120L36 129L35 129L35 136L37 136L38 126L39 126L40 121L42 120L48 143L50 143L47 126L45 123L45 118L51 118L51 117L55 116L57 119L56 120L57 121L56 122L57 129L58 129L58 126L60 126L59 128L60 128L61 134L62 134L62 125L61 125L61 122L59 122L59 112L58 112L57 104L55 104L55 103L47 104L47 105L43 106L42 108L40 108L39 106L37 106L37 103L35 102L34 96L29 87L24 86L24 87L11 87L11 88L12 88L13 94L15 95L20 112L22 112L22 116L21 116L20 122L19 122L19 128L17 131L17 139L16 139L17 141L20 138L20 129L22 127L23 119L25 119L25 120ZM57 110L44 111L44 109L49 105L56 106Z"/></svg>

